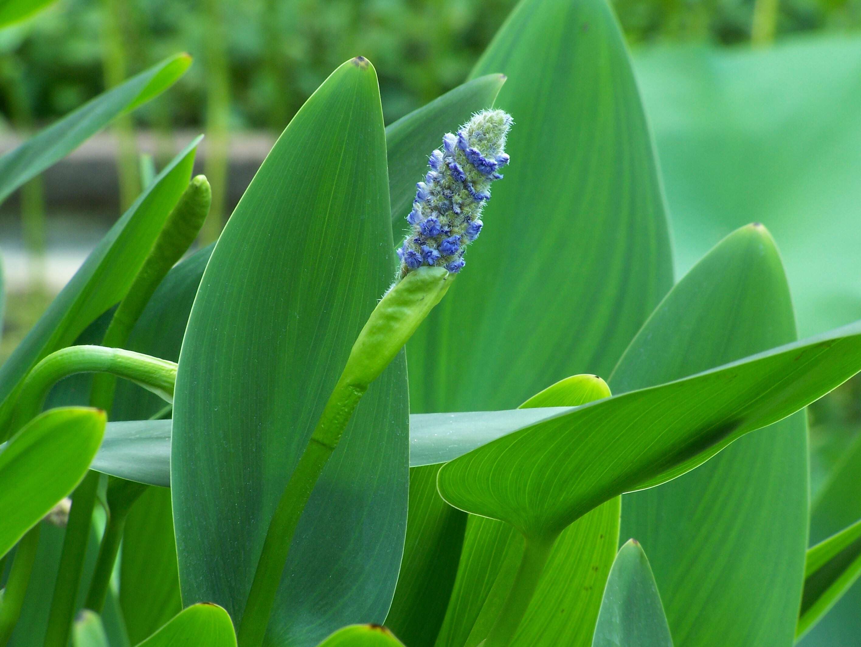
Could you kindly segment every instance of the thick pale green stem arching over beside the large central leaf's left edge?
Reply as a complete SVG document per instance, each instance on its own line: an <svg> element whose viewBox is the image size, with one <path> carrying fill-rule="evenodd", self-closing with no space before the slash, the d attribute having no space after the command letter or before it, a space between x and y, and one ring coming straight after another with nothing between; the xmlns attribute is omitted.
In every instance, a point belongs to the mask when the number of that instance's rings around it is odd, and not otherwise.
<svg viewBox="0 0 861 647"><path fill-rule="evenodd" d="M24 379L13 408L11 432L39 414L54 383L76 373L101 371L124 377L165 401L173 401L177 364L121 348L68 346L42 359Z"/></svg>

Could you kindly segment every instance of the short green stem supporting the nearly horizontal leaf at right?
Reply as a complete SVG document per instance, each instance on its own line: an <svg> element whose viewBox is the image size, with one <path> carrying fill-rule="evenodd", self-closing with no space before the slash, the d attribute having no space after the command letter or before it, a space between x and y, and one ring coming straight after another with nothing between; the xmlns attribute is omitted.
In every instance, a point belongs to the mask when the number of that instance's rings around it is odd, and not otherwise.
<svg viewBox="0 0 861 647"><path fill-rule="evenodd" d="M544 566L550 557L550 551L556 537L547 539L527 539L523 548L520 568L514 576L511 591L505 598L505 603L499 610L499 617L491 627L487 638L481 647L508 647L520 626L526 610L530 606L532 596L536 592L538 582L544 572Z"/></svg>

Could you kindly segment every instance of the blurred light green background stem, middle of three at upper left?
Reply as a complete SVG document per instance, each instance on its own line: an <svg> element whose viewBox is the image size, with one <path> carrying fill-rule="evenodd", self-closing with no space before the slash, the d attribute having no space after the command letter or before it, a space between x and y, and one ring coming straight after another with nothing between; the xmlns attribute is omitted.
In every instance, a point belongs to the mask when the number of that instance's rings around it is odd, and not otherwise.
<svg viewBox="0 0 861 647"><path fill-rule="evenodd" d="M121 84L126 76L126 32L128 5L125 0L102 0L102 69L105 86ZM120 178L120 210L132 206L140 193L138 146L134 138L131 115L119 115L114 121L117 138L117 174Z"/></svg>

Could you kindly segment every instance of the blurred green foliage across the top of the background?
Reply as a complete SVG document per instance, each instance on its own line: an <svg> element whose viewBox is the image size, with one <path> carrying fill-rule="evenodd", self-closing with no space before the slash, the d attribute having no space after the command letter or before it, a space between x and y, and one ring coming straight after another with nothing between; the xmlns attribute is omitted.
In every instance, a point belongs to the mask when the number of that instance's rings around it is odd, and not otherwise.
<svg viewBox="0 0 861 647"><path fill-rule="evenodd" d="M760 0L760 7L769 0ZM344 59L362 53L380 76L387 121L460 84L514 0L60 0L0 34L0 114L50 121L170 53L195 65L134 115L150 128L201 126L226 79L230 128L281 130ZM751 0L617 0L632 44L751 39ZM861 28L861 0L783 0L784 34ZM222 78L224 77L224 78ZM16 106L15 104L25 104Z"/></svg>

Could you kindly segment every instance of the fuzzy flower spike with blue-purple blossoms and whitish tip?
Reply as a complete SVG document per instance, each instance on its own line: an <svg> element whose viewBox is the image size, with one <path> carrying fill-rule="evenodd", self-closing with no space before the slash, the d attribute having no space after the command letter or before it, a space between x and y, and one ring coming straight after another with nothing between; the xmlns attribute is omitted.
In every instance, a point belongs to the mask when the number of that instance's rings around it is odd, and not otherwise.
<svg viewBox="0 0 861 647"><path fill-rule="evenodd" d="M499 169L509 161L509 128L511 115L482 110L457 134L443 136L443 147L431 153L431 171L416 184L416 199L406 216L412 231L398 248L401 277L422 265L463 269L463 253L483 226L481 208L490 199L490 184L502 179Z"/></svg>

